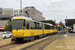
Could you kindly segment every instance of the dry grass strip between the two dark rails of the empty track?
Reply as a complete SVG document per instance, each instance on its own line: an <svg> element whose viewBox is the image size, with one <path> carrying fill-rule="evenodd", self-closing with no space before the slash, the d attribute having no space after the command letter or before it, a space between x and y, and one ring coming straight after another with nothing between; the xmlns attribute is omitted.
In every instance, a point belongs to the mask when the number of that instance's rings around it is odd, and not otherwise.
<svg viewBox="0 0 75 50"><path fill-rule="evenodd" d="M35 45L33 45L33 46L27 48L26 50L39 50L40 48L42 48L43 46L45 46L47 43L51 42L51 41L54 40L55 38L57 38L57 37L49 38L49 39L47 39L47 40L45 40L45 41L42 41L42 42L40 42L40 43L38 43L38 44L35 44Z"/></svg>

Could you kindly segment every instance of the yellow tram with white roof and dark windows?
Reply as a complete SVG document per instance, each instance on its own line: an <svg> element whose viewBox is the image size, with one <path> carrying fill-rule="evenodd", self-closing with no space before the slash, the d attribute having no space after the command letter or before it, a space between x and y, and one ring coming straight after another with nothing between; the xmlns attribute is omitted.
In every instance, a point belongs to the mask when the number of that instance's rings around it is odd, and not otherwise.
<svg viewBox="0 0 75 50"><path fill-rule="evenodd" d="M24 16L13 17L12 41L33 40L57 33L56 26Z"/></svg>

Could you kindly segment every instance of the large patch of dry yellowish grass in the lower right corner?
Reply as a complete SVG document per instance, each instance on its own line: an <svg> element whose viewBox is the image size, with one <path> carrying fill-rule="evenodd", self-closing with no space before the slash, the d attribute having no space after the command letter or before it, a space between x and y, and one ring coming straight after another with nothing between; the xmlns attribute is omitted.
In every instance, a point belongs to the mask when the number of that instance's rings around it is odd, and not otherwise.
<svg viewBox="0 0 75 50"><path fill-rule="evenodd" d="M57 39L44 50L75 50L75 37L66 37L63 40Z"/></svg>

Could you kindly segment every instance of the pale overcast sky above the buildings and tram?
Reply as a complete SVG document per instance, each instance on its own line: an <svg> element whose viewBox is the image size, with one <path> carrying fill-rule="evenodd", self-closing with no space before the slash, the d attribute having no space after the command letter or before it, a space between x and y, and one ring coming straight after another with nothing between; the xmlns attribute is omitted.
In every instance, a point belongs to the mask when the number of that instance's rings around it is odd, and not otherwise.
<svg viewBox="0 0 75 50"><path fill-rule="evenodd" d="M20 9L20 3L18 1L0 0L0 7ZM46 20L56 20L57 23L59 21L65 23L64 19L66 19L66 16L68 19L75 18L75 0L22 0L22 2L23 8L34 6L43 13L43 17Z"/></svg>

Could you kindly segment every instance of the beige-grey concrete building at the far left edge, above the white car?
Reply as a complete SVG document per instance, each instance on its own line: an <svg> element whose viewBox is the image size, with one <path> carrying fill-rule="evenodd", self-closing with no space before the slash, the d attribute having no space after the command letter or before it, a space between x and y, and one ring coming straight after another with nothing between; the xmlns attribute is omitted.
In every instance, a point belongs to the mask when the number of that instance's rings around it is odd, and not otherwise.
<svg viewBox="0 0 75 50"><path fill-rule="evenodd" d="M0 8L0 27L5 27L5 24L14 16L12 8Z"/></svg>

